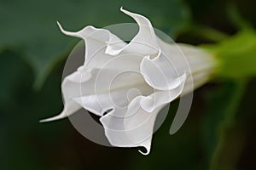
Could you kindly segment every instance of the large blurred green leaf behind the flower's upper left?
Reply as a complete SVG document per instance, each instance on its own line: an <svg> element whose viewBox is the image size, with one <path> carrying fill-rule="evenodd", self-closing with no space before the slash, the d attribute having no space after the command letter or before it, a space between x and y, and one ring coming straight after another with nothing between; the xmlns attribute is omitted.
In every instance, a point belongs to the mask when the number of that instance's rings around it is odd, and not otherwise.
<svg viewBox="0 0 256 170"><path fill-rule="evenodd" d="M58 60L67 57L75 39L66 37L56 26L56 20L70 31L84 26L109 26L134 22L121 14L124 6L149 18L155 27L175 35L186 26L189 12L180 0L160 0L157 3L143 0L56 0L56 1L1 1L0 51L9 48L22 54L32 65L39 88ZM167 29L166 29L167 28Z"/></svg>

